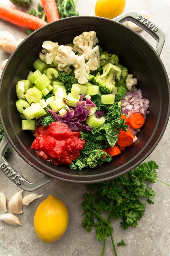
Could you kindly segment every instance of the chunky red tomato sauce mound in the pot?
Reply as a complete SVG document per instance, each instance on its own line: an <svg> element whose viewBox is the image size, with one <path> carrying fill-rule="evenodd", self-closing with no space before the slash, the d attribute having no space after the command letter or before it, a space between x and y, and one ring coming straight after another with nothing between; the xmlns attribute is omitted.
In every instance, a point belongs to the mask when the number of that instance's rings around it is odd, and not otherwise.
<svg viewBox="0 0 170 256"><path fill-rule="evenodd" d="M53 164L71 164L85 144L85 140L80 139L80 132L72 132L67 124L59 122L38 127L34 136L31 148Z"/></svg>

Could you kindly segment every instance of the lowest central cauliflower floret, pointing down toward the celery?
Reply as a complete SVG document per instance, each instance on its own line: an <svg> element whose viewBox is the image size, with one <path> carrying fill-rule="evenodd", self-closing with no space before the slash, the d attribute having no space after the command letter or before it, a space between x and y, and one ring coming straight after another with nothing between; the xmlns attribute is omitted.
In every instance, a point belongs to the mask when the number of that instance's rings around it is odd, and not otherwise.
<svg viewBox="0 0 170 256"><path fill-rule="evenodd" d="M76 61L73 64L73 66L75 67L75 69L74 69L75 78L78 79L78 82L80 84L87 83L90 70L89 70L89 67L85 63L85 56L84 55L78 56Z"/></svg>

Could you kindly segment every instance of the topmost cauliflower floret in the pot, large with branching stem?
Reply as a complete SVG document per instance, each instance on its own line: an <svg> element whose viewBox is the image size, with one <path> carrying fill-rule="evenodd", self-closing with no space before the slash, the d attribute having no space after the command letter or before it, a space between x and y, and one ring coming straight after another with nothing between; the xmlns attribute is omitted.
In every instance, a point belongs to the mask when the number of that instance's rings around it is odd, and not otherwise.
<svg viewBox="0 0 170 256"><path fill-rule="evenodd" d="M73 39L73 51L85 54L86 60L90 58L90 51L99 42L95 31L83 32Z"/></svg>

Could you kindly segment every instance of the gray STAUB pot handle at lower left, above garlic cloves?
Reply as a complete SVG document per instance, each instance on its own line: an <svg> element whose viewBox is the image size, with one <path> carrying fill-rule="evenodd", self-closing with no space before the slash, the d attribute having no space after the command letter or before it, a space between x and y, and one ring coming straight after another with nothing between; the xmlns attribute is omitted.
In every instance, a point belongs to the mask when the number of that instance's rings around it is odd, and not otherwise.
<svg viewBox="0 0 170 256"><path fill-rule="evenodd" d="M18 187L25 191L34 191L38 188L41 188L45 184L51 182L53 178L45 175L41 180L38 180L36 183L31 183L26 180L23 176L21 176L12 166L5 160L4 154L8 147L9 141L7 137L4 135L1 143L0 143L0 168L3 173Z"/></svg>

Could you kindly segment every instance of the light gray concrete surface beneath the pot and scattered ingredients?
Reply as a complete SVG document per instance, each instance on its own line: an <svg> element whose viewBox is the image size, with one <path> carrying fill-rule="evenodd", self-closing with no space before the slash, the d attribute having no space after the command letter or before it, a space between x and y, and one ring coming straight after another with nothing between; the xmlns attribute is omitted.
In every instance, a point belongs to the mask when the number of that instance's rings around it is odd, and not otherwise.
<svg viewBox="0 0 170 256"><path fill-rule="evenodd" d="M6 3L9 0L4 0ZM32 0L34 5L38 1ZM77 0L80 15L94 15L94 7L96 0ZM127 0L125 11L146 10L150 19L158 25L166 35L166 43L161 54L161 58L165 64L168 74L170 74L169 66L169 9L170 2L168 0ZM0 20L0 30L7 30L15 34L16 38L26 37L24 29L10 25ZM151 37L142 32L142 35L155 46L155 42ZM9 55L0 53L0 63ZM169 140L170 125L166 132L148 159L156 160L159 164L159 179L170 183L169 176ZM147 159L147 160L148 160ZM10 164L15 167L30 181L38 180L42 174L26 164L16 152L13 151ZM126 246L117 248L119 256L169 256L170 255L170 192L169 187L157 183L153 185L156 191L154 198L155 205L147 205L145 216L139 221L136 228L129 228L123 231L119 221L113 221L114 240L115 243L120 242L123 238ZM14 185L2 172L0 172L0 191L3 191L8 200L19 188ZM102 243L95 238L95 232L87 233L81 228L81 202L82 196L86 191L85 185L64 183L54 180L50 184L37 190L37 194L44 194L44 197L32 202L28 207L24 207L23 214L19 215L22 226L12 227L6 223L0 222L0 256L99 256L101 255ZM24 195L27 195L24 192ZM49 194L63 200L69 210L70 220L66 234L55 244L43 244L34 233L33 217L38 204ZM0 214L3 212L0 210ZM114 255L110 239L106 243L105 255Z"/></svg>

